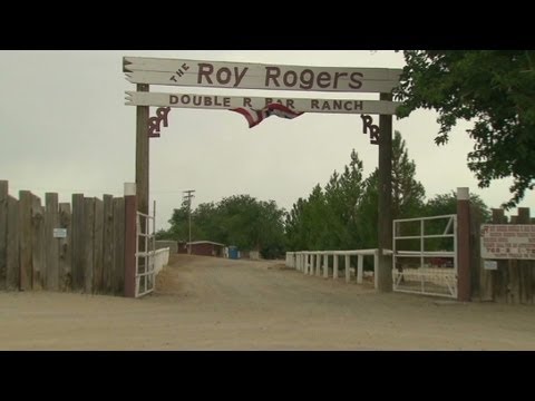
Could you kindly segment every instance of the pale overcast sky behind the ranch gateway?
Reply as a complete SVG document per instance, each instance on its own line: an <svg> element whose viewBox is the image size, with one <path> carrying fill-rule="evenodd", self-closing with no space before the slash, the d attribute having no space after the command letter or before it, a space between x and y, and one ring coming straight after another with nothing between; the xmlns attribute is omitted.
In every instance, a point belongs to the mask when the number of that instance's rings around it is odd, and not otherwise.
<svg viewBox="0 0 535 401"><path fill-rule="evenodd" d="M72 193L123 195L135 182L135 116L125 91L135 90L123 72L123 56L242 61L324 67L401 68L393 51L2 51L0 52L0 179L10 194L30 189L43 199L57 192L60 202ZM244 89L153 87L152 91L227 96L357 98L378 95L285 92ZM153 116L155 108L152 108ZM467 186L489 207L509 198L509 179L479 189L467 167L473 140L459 124L445 147L434 144L437 115L428 110L393 121L416 163L416 178L427 197ZM378 117L374 116L376 124ZM226 110L174 108L169 127L150 139L150 205L157 204L157 228L167 228L183 190L195 189L193 205L250 194L274 199L290 209L322 186L333 170L349 163L351 149L363 160L364 174L378 165L378 147L362 134L359 115L304 114L286 120L272 116L254 128ZM532 207L527 193L519 206Z"/></svg>

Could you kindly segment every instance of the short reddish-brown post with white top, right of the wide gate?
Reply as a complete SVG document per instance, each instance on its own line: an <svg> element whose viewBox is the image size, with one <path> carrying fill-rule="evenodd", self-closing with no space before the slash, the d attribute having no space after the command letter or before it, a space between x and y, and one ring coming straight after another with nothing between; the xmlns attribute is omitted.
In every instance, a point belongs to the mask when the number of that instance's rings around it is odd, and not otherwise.
<svg viewBox="0 0 535 401"><path fill-rule="evenodd" d="M457 300L470 301L470 192L457 188Z"/></svg>

